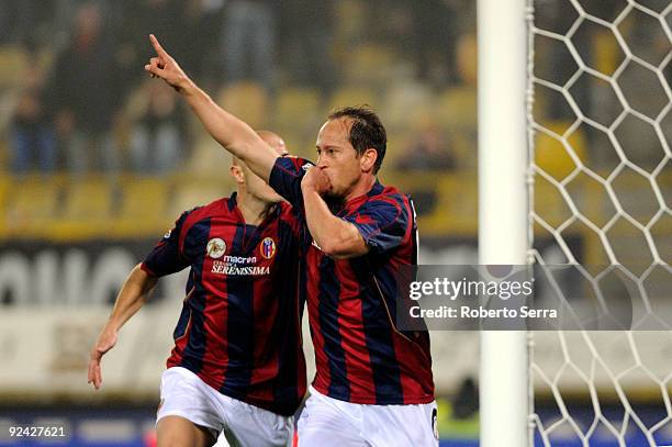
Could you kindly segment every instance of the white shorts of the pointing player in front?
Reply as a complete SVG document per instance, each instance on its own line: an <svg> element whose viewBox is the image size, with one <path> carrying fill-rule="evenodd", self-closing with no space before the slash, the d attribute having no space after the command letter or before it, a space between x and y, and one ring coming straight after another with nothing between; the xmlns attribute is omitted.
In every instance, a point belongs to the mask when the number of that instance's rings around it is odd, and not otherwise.
<svg viewBox="0 0 672 447"><path fill-rule="evenodd" d="M438 446L436 402L366 405L310 391L299 417L299 447Z"/></svg>

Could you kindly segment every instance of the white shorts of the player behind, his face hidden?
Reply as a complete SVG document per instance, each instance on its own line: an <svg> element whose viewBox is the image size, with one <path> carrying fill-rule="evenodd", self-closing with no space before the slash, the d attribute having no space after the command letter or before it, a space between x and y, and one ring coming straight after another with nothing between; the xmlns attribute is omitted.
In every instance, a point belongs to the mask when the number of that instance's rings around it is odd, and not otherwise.
<svg viewBox="0 0 672 447"><path fill-rule="evenodd" d="M231 446L291 446L294 417L222 394L186 368L168 368L161 375L161 404L156 421L180 416L223 433ZM216 444L226 445L222 436Z"/></svg>

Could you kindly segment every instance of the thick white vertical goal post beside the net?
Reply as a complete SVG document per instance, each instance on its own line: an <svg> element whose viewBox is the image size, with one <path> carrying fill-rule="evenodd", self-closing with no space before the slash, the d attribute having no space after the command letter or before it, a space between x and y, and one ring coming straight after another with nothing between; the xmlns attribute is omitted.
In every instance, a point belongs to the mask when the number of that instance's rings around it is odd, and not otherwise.
<svg viewBox="0 0 672 447"><path fill-rule="evenodd" d="M479 0L479 264L524 265L527 254L525 0ZM482 447L528 443L525 332L481 333Z"/></svg>

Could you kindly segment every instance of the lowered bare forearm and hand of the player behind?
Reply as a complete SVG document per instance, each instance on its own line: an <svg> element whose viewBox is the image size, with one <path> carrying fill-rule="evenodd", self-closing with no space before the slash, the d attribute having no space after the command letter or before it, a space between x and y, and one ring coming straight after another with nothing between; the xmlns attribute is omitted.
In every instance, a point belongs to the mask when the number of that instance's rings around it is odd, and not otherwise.
<svg viewBox="0 0 672 447"><path fill-rule="evenodd" d="M102 356L114 347L119 331L143 306L157 281L157 278L147 275L139 265L135 266L126 278L116 297L114 309L91 348L88 382L93 383L97 390L102 384Z"/></svg>

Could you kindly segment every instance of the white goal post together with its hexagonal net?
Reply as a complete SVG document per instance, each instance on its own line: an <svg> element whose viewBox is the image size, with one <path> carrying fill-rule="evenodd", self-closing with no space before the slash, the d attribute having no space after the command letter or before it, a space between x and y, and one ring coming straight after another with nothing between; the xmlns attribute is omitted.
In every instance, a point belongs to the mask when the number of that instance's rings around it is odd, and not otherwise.
<svg viewBox="0 0 672 447"><path fill-rule="evenodd" d="M672 0L479 0L477 25L479 264L630 305L619 331L482 332L481 446L670 445Z"/></svg>

